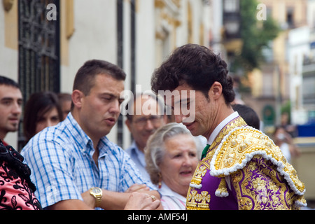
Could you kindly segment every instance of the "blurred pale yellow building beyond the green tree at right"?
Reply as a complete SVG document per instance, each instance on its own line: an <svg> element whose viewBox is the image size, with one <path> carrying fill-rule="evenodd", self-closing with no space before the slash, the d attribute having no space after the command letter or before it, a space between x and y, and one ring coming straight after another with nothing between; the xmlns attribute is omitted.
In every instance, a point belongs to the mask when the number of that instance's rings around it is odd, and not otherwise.
<svg viewBox="0 0 315 224"><path fill-rule="evenodd" d="M294 35L292 30L309 26L311 12L307 0L262 0L259 3L266 6L266 20L274 19L281 31L273 41L270 41L269 49L264 50L265 62L261 64L260 69L254 69L249 73L251 94L244 96L244 102L258 112L267 127L265 131L272 133L274 125L281 123L283 105L290 103L292 106L296 102L296 96L300 96L300 92L296 92L297 88L294 86L297 85L294 81L297 76L294 80L291 76L294 49L289 47L289 36ZM302 48L299 45L295 50L301 51ZM298 59L302 62L300 56ZM302 91L302 88L298 91ZM292 107L290 111L293 111ZM291 114L291 123L296 125L294 113L293 111ZM268 129L268 126L271 129Z"/></svg>

